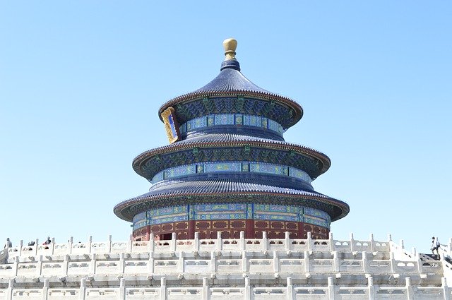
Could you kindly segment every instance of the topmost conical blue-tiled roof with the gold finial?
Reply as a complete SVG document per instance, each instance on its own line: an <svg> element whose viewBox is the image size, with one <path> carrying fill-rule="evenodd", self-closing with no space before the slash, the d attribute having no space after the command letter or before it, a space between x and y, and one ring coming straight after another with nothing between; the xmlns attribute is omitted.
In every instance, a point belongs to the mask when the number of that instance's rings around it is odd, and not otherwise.
<svg viewBox="0 0 452 300"><path fill-rule="evenodd" d="M190 102L191 100L196 100L202 97L215 97L224 95L244 95L248 97L258 97L261 99L266 99L268 101L275 101L282 105L286 105L293 110L291 121L288 125L292 126L302 119L303 109L295 101L288 97L284 97L273 92L269 92L263 88L258 87L246 78L240 72L240 64L237 59L235 59L235 47L237 47L237 41L229 39L225 40L223 43L225 45L225 61L222 62L220 68L220 74L215 77L210 83L204 85L202 88L195 90L194 92L189 92L184 95L178 96L169 100L162 105L159 109L159 117L162 119L162 112L168 107L175 107L177 104L182 102Z"/></svg>

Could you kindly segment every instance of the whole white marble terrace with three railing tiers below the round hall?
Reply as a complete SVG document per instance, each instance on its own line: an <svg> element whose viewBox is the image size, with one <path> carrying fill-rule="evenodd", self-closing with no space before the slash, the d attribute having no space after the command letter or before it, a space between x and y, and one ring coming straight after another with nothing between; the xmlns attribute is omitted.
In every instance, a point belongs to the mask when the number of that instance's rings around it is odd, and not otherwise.
<svg viewBox="0 0 452 300"><path fill-rule="evenodd" d="M403 241L107 241L0 251L7 299L452 299L452 239L441 260ZM452 285L452 284L451 284Z"/></svg>

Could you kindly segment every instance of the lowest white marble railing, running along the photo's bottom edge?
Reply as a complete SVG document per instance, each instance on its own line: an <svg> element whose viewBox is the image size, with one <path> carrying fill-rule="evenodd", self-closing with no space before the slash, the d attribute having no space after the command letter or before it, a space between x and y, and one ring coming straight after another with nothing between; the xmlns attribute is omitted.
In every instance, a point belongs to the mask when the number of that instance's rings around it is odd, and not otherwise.
<svg viewBox="0 0 452 300"><path fill-rule="evenodd" d="M234 287L213 287L207 277L202 280L199 287L167 287L167 280L162 278L160 285L147 287L127 287L126 280L122 278L119 287L90 287L87 280L82 279L80 287L49 286L49 280L44 280L42 288L14 287L14 281L10 280L8 288L0 289L0 299L155 299L155 300L450 300L452 288L448 287L443 279L441 286L419 287L411 284L410 278L405 279L405 284L396 286L383 286L374 284L372 277L367 279L367 284L359 287L338 286L333 277L328 277L326 285L313 285L311 287L299 287L292 284L292 278L288 277L283 287L254 287L250 279L245 277L242 284Z"/></svg>

